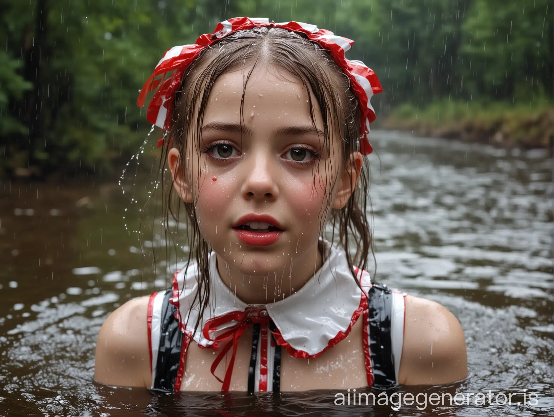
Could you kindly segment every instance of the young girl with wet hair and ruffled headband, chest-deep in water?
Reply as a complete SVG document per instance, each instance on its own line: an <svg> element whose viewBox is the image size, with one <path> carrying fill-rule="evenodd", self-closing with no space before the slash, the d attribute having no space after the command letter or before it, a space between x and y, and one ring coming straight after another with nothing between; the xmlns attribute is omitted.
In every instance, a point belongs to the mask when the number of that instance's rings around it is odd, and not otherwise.
<svg viewBox="0 0 554 417"><path fill-rule="evenodd" d="M233 18L166 52L139 105L160 86L147 119L169 131L158 145L196 259L172 289L107 318L98 382L276 392L466 377L452 313L365 271L363 156L382 89L345 58L352 44L311 24Z"/></svg>

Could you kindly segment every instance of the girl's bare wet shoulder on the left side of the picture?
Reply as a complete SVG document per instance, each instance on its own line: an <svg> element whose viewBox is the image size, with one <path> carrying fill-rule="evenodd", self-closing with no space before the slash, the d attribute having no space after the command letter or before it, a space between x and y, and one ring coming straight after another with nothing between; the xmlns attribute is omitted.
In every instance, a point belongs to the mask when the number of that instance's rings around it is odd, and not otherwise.
<svg viewBox="0 0 554 417"><path fill-rule="evenodd" d="M94 378L107 385L149 387L148 296L134 298L106 318L96 341Z"/></svg>

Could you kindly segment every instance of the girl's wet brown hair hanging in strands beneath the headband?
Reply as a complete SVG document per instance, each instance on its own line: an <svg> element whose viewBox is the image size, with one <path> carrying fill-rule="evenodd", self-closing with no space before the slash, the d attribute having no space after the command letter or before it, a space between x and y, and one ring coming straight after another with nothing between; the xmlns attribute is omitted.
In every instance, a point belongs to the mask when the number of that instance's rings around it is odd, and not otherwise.
<svg viewBox="0 0 554 417"><path fill-rule="evenodd" d="M317 101L321 110L324 123L324 146L326 155L329 155L330 132L340 132L341 167L338 174L346 169L352 152L360 148L360 109L356 95L350 87L347 76L338 68L329 53L312 42L302 34L289 32L280 28L254 28L228 35L211 47L202 50L201 54L189 66L181 80L181 89L175 96L175 112L173 114L173 129L169 132L170 141L164 141L161 158L161 173L167 171L165 161L170 147L179 150L177 170L186 175L187 137L189 129L193 126L193 119L196 115L196 138L199 141L200 130L203 122L203 115L208 104L208 97L212 87L220 75L232 72L240 68L250 69L240 102L241 122L244 121L243 105L244 94L248 78L254 68L259 64L276 71L283 71L299 79L308 91L310 116L315 126L313 99ZM334 128L335 126L335 128ZM198 144L199 147L199 144ZM346 251L346 259L352 270L352 279L355 279L358 286L360 283L353 272L353 266L366 269L367 260L372 251L372 239L370 225L366 217L368 202L369 167L364 159L365 168L362 172L357 188L352 193L347 204L340 210L331 208L329 223L332 224L332 241L335 241L335 233L338 224L338 240ZM338 176L337 176L338 178ZM314 178L315 181L315 178ZM336 178L335 178L336 181ZM174 182L174 181L173 181ZM203 239L196 217L193 203L184 203L180 198L175 199L177 207L172 207L172 194L174 192L173 182L168 186L167 205L165 212L166 239L168 238L168 220L171 216L179 224L180 205L184 204L187 213L187 237L190 248L187 261L191 265L192 256L197 262L198 268L198 291L193 303L198 302L199 318L194 331L199 325L199 320L209 300L209 262L208 255L211 251L209 244ZM189 184L191 182L188 182ZM330 208L331 194L327 194L327 208L322 207L320 212L320 235L323 236L327 209ZM355 245L356 253L350 253L350 246ZM185 271L186 272L186 271ZM188 320L188 319L187 319Z"/></svg>

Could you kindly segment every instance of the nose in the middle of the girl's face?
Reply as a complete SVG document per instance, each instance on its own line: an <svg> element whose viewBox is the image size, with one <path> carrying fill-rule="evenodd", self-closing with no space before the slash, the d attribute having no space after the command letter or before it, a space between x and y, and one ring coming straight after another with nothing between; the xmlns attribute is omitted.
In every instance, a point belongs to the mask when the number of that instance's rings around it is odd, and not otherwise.
<svg viewBox="0 0 554 417"><path fill-rule="evenodd" d="M243 197L247 200L275 200L279 194L275 181L278 162L273 161L267 151L260 150L244 158L242 163L246 172Z"/></svg>

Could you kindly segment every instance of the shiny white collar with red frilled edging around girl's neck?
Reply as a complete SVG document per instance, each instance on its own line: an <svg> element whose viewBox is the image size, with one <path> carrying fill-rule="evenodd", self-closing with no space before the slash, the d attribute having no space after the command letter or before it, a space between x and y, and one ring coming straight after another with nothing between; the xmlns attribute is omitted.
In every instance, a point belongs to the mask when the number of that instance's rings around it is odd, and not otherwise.
<svg viewBox="0 0 554 417"><path fill-rule="evenodd" d="M282 337L277 338L278 344L295 357L319 356L327 348L340 342L350 333L363 308L367 308L366 297L362 297L360 287L348 270L345 251L321 238L318 246L324 258L321 269L293 295L263 305ZM208 320L252 307L239 300L223 283L217 271L216 259L216 253L212 251L209 254L209 302L193 335L199 315L198 302L191 309L198 291L196 263L173 277L171 303L178 308L181 330L192 335L201 347L209 347L213 343L202 333ZM355 272L358 280L361 280L362 288L367 292L371 286L370 275L357 269ZM235 323L237 322L226 323L218 327L217 332Z"/></svg>

